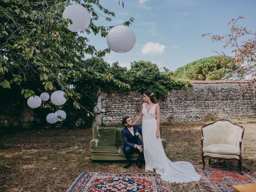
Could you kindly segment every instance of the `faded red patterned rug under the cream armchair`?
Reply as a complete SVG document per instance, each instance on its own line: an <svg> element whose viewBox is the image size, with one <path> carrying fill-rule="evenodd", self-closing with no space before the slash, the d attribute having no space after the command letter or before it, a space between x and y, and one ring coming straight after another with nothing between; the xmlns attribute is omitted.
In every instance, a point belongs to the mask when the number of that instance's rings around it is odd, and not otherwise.
<svg viewBox="0 0 256 192"><path fill-rule="evenodd" d="M202 176L197 182L202 192L235 192L232 185L256 184L256 174L243 166L243 175L240 175L235 162L227 164L218 162L204 170L202 170L202 166L194 167Z"/></svg>

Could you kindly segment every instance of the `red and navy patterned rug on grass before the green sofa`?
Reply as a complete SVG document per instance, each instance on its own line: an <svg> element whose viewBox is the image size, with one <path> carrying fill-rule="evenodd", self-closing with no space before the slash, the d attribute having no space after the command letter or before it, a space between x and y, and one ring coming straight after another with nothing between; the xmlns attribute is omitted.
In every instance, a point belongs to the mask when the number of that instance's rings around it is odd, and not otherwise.
<svg viewBox="0 0 256 192"><path fill-rule="evenodd" d="M68 192L171 192L157 173L84 172Z"/></svg>

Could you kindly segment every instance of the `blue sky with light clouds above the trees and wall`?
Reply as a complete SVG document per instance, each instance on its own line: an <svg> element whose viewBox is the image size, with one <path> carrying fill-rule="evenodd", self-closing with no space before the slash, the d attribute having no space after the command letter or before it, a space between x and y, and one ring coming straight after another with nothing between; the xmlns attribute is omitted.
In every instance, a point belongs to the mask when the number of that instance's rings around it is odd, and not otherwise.
<svg viewBox="0 0 256 192"><path fill-rule="evenodd" d="M215 55L214 51L230 52L220 42L212 44L203 33L224 34L230 32L228 22L243 16L238 24L256 31L255 0L102 0L101 4L114 11L112 22L104 18L97 25L118 25L133 17L130 28L136 35L134 48L127 53L115 53L104 57L110 64L130 68L133 61L151 61L162 68L176 70L194 60ZM120 0L122 3L122 0ZM83 34L85 35L85 34ZM89 35L90 44L98 50L107 48L106 38Z"/></svg>

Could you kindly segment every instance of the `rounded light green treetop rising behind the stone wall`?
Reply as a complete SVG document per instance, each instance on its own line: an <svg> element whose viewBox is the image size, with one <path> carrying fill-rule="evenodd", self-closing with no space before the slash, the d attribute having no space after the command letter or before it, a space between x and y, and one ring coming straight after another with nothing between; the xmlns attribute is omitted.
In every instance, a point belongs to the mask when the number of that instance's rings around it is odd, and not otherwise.
<svg viewBox="0 0 256 192"><path fill-rule="evenodd" d="M232 58L211 56L190 62L178 68L173 73L173 76L174 78L189 80L229 79L236 68Z"/></svg>

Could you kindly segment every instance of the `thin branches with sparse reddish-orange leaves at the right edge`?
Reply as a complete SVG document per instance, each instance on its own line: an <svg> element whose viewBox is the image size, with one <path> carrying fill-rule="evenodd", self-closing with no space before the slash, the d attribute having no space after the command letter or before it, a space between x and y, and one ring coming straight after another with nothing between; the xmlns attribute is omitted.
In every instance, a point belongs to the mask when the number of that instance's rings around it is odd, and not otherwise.
<svg viewBox="0 0 256 192"><path fill-rule="evenodd" d="M234 76L237 79L249 78L252 82L256 82L256 31L252 32L245 27L237 26L236 22L243 19L239 16L232 19L228 25L231 25L231 31L225 35L213 35L211 33L202 34L202 36L210 36L213 42L224 43L224 48L232 50L234 53L233 64L237 66ZM221 53L224 58L225 53Z"/></svg>

